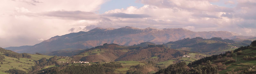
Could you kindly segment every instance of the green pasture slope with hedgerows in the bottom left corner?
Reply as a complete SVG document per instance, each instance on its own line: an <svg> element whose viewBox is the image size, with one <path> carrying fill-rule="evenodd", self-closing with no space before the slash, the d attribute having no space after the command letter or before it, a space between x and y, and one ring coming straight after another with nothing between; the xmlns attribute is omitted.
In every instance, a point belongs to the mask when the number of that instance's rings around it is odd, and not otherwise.
<svg viewBox="0 0 256 74"><path fill-rule="evenodd" d="M7 74L6 71L10 69L22 70L28 73L38 60L51 57L53 56L15 53L0 47L0 74Z"/></svg>

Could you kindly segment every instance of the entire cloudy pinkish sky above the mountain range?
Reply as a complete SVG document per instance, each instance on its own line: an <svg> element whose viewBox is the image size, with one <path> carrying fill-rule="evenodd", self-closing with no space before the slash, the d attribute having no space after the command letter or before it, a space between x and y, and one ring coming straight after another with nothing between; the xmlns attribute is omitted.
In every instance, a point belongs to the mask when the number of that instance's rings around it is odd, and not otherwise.
<svg viewBox="0 0 256 74"><path fill-rule="evenodd" d="M96 27L185 28L256 36L256 0L0 0L0 47Z"/></svg>

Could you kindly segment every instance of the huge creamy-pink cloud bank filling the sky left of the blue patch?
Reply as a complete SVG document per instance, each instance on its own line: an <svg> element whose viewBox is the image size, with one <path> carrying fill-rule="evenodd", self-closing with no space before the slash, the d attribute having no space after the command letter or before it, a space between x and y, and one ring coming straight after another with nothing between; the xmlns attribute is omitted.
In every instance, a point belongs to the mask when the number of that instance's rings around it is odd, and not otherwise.
<svg viewBox="0 0 256 74"><path fill-rule="evenodd" d="M0 46L34 45L70 33L79 20L98 21L106 0L0 0ZM58 15L57 15L58 14ZM91 25L91 21L83 21Z"/></svg>

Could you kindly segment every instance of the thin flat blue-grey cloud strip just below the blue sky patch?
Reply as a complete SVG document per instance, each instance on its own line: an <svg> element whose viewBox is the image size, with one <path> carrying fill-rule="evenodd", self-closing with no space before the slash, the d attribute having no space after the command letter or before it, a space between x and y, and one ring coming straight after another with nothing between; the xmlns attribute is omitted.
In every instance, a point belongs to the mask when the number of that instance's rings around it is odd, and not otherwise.
<svg viewBox="0 0 256 74"><path fill-rule="evenodd" d="M147 14L126 14L126 13L108 13L103 16L120 17L120 18L146 18L150 17Z"/></svg>

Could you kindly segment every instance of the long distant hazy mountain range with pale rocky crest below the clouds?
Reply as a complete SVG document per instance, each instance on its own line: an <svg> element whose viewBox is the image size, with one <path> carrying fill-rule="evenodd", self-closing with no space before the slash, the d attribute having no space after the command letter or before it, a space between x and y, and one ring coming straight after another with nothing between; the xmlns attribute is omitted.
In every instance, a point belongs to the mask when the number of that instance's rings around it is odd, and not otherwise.
<svg viewBox="0 0 256 74"><path fill-rule="evenodd" d="M235 37L234 37L235 36ZM202 37L209 39L212 37L221 37L222 39L234 39L238 34L228 31L209 31L193 32L187 29L139 29L133 27L113 28L95 28L88 32L80 31L63 36L55 36L33 46L7 47L5 49L18 53L47 53L64 49L85 49L98 45L118 44L134 45L142 42L152 42L155 44L164 44L170 41L177 41L183 38ZM246 36L245 36L246 37ZM250 37L251 38L251 37Z"/></svg>

